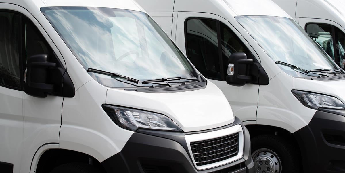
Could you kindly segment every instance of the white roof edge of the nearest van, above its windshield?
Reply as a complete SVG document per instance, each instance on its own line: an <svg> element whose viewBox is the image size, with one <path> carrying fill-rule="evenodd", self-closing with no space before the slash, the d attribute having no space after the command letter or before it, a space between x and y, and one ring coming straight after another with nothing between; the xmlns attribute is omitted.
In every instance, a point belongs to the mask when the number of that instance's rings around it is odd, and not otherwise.
<svg viewBox="0 0 345 173"><path fill-rule="evenodd" d="M41 7L108 7L144 11L134 0L0 0L21 6L33 15L40 14Z"/></svg>

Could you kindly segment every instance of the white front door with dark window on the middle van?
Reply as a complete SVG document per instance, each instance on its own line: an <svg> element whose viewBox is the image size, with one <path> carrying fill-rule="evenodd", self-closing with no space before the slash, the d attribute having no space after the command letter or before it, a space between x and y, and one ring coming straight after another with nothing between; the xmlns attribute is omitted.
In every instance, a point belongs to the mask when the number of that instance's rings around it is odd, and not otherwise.
<svg viewBox="0 0 345 173"><path fill-rule="evenodd" d="M248 58L257 58L244 38L225 19L213 14L178 12L176 23L175 42L191 63L223 91L235 116L242 121L256 120L259 85L236 87L225 80L232 53L245 52Z"/></svg>

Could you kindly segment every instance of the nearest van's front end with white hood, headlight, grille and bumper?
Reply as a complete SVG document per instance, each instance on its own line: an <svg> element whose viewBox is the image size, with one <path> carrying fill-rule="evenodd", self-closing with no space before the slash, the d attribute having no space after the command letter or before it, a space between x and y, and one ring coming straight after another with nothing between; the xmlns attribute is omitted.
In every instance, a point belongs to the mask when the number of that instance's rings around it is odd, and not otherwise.
<svg viewBox="0 0 345 173"><path fill-rule="evenodd" d="M120 152L101 162L108 172L252 171L249 132L214 84L165 89L108 89L103 109L114 126L134 131Z"/></svg>

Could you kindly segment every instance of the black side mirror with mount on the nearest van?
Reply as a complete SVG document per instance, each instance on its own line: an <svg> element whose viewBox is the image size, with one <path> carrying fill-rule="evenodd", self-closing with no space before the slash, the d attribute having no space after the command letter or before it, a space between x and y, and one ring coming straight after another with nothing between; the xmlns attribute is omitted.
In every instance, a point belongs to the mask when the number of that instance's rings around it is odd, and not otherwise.
<svg viewBox="0 0 345 173"><path fill-rule="evenodd" d="M63 97L75 95L74 85L65 68L59 62L49 62L47 54L28 58L24 91L41 98L48 94Z"/></svg>

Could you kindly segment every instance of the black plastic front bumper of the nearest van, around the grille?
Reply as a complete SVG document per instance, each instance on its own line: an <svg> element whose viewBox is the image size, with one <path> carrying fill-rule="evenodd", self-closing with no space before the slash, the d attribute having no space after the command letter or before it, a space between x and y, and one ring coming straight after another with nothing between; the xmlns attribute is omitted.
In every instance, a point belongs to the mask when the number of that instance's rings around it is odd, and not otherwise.
<svg viewBox="0 0 345 173"><path fill-rule="evenodd" d="M185 135L226 129L237 124L242 125L236 118L234 123L225 127L189 133L139 129L120 153L102 164L108 173L252 173L254 163L250 157L250 137L244 126L243 157L234 162L198 171L188 152Z"/></svg>

